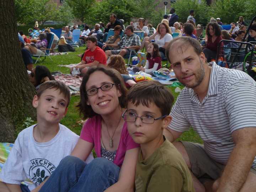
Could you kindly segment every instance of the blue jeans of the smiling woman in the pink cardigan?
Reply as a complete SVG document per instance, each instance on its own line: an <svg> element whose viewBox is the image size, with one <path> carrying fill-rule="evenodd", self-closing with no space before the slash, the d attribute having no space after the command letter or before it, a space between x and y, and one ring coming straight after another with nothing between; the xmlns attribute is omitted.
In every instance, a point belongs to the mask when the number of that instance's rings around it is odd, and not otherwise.
<svg viewBox="0 0 256 192"><path fill-rule="evenodd" d="M96 158L89 164L66 156L39 192L101 192L118 181L120 168L113 162Z"/></svg>

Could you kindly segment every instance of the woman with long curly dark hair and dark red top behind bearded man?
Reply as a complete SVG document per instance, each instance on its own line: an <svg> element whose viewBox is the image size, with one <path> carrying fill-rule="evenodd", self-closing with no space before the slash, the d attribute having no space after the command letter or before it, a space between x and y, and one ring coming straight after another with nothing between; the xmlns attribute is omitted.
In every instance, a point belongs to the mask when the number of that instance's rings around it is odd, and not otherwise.
<svg viewBox="0 0 256 192"><path fill-rule="evenodd" d="M216 59L218 44L222 40L218 23L208 23L206 27L206 36L207 41L203 53L207 58L207 62L211 62L212 59ZM223 47L223 43L220 46Z"/></svg>

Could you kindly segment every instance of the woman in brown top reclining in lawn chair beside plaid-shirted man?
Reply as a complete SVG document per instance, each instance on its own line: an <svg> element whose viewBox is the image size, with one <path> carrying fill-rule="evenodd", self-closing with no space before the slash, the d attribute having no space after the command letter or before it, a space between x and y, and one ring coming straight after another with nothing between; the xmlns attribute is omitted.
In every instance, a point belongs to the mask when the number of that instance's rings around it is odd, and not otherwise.
<svg viewBox="0 0 256 192"><path fill-rule="evenodd" d="M108 40L106 41L106 43L101 43L101 42L97 42L98 46L100 48L102 48L104 51L105 50L109 50L108 47L117 47L118 46L118 42L121 41L121 36L120 33L122 31L122 27L120 25L117 25L114 27L114 35L108 37Z"/></svg>

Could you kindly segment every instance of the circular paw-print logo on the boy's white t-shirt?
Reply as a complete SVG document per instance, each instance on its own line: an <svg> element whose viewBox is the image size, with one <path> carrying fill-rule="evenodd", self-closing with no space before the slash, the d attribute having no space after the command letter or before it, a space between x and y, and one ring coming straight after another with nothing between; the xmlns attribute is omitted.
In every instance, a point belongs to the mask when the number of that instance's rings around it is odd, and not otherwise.
<svg viewBox="0 0 256 192"><path fill-rule="evenodd" d="M32 159L30 160L29 176L30 180L39 185L47 177L49 177L56 167L47 159Z"/></svg>

